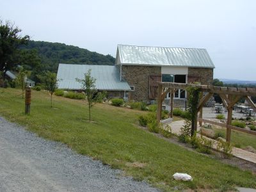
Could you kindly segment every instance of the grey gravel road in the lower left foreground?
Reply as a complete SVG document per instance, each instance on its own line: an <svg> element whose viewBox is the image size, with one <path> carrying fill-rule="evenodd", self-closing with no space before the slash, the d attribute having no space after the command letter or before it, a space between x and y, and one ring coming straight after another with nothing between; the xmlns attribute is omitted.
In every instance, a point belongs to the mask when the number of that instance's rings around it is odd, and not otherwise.
<svg viewBox="0 0 256 192"><path fill-rule="evenodd" d="M118 176L119 175L119 176ZM157 191L0 117L0 191Z"/></svg>

